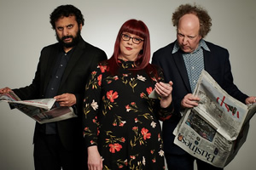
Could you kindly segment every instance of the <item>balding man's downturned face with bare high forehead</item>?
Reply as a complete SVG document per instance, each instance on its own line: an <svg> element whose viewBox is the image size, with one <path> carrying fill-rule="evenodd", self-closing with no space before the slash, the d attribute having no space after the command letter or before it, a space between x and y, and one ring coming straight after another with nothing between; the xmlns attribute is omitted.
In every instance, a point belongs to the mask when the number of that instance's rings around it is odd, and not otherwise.
<svg viewBox="0 0 256 170"><path fill-rule="evenodd" d="M195 14L185 14L179 20L177 27L177 42L185 53L192 53L201 40L199 35L200 24Z"/></svg>

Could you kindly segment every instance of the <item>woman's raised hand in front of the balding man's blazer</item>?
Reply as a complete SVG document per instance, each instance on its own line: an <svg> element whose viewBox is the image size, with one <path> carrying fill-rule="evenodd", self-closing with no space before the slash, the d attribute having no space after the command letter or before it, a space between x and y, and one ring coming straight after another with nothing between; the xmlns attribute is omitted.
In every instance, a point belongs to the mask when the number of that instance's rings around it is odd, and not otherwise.
<svg viewBox="0 0 256 170"><path fill-rule="evenodd" d="M166 108L172 103L172 84L172 81L167 84L156 82L154 86L155 92L160 95L160 105L162 108Z"/></svg>

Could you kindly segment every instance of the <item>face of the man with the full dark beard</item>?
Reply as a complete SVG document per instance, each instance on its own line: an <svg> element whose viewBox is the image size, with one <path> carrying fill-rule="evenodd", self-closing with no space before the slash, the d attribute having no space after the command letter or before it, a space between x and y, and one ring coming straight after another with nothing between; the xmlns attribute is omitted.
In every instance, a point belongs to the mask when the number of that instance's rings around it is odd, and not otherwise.
<svg viewBox="0 0 256 170"><path fill-rule="evenodd" d="M74 15L55 21L56 38L64 48L73 48L78 43L81 29L82 24L78 25Z"/></svg>

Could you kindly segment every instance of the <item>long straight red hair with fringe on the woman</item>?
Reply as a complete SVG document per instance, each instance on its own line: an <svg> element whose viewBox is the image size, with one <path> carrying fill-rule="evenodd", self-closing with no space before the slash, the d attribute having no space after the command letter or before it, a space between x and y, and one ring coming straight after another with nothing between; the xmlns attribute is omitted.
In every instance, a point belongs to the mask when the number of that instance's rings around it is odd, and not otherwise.
<svg viewBox="0 0 256 170"><path fill-rule="evenodd" d="M143 50L137 56L137 60L135 61L136 67L133 68L132 70L134 71L142 70L146 68L149 64L150 37L149 37L148 27L143 23L142 20L134 20L134 19L127 20L119 30L119 33L116 37L116 41L114 43L113 55L110 59L108 59L109 71L111 74L117 73L119 69L119 63L118 63L118 57L120 54L119 44L121 41L121 34L123 32L129 32L131 34L135 34L138 37L142 37L144 40Z"/></svg>

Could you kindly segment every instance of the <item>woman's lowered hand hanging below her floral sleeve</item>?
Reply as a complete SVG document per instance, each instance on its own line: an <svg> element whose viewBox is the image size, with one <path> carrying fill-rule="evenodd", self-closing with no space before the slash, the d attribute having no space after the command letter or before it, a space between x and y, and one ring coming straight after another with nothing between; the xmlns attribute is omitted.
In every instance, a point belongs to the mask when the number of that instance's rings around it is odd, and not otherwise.
<svg viewBox="0 0 256 170"><path fill-rule="evenodd" d="M88 151L88 168L89 170L102 170L103 163L102 157L97 149L97 146L90 146L87 149Z"/></svg>

